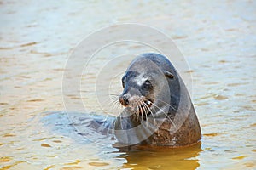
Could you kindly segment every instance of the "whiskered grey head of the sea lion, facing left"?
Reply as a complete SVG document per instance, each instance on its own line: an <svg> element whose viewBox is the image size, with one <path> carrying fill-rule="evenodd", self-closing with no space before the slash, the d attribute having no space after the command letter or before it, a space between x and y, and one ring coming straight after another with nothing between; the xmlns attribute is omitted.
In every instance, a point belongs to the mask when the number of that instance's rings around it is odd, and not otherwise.
<svg viewBox="0 0 256 170"><path fill-rule="evenodd" d="M131 108L137 116L159 110L171 103L170 85L176 76L171 62L163 55L141 54L131 62L122 77L124 90L119 95L119 102Z"/></svg>

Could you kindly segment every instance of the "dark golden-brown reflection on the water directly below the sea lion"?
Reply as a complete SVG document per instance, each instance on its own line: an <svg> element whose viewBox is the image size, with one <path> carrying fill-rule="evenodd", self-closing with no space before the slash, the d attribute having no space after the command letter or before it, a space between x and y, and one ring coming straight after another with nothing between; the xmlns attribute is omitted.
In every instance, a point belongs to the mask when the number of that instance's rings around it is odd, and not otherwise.
<svg viewBox="0 0 256 170"><path fill-rule="evenodd" d="M201 142L186 148L137 146L124 151L121 156L127 162L123 168L142 169L195 169L200 167Z"/></svg>

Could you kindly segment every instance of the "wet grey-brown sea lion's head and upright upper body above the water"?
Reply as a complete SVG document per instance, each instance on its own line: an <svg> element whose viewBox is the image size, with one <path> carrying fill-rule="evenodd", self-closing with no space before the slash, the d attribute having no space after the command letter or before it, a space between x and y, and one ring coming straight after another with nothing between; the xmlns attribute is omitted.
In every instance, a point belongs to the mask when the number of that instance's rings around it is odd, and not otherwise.
<svg viewBox="0 0 256 170"><path fill-rule="evenodd" d="M196 144L201 128L182 78L161 54L141 54L122 78L119 102L125 110L114 122L121 144L172 147Z"/></svg>

